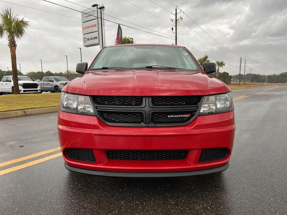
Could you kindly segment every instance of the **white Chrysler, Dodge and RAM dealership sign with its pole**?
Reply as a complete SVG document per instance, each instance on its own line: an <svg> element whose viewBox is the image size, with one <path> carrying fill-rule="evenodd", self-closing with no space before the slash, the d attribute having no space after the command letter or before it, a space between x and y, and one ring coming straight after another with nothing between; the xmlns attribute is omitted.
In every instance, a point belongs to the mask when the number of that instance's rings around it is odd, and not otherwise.
<svg viewBox="0 0 287 215"><path fill-rule="evenodd" d="M103 5L99 5L103 7ZM97 46L100 45L100 49L104 47L104 42L102 38L102 29L101 28L101 19L98 19L101 16L101 10L98 7L91 7L89 9L83 10L81 13L82 16L82 32L83 32L83 46ZM100 26L100 28L99 28Z"/></svg>

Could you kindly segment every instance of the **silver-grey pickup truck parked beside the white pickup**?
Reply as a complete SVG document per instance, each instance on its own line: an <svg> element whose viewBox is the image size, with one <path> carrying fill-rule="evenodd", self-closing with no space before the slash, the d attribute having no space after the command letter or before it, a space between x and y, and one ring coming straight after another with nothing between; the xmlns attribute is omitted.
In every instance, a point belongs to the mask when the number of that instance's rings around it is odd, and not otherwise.
<svg viewBox="0 0 287 215"><path fill-rule="evenodd" d="M43 77L40 86L41 91L60 93L62 88L69 83L69 80L61 76L46 76Z"/></svg>

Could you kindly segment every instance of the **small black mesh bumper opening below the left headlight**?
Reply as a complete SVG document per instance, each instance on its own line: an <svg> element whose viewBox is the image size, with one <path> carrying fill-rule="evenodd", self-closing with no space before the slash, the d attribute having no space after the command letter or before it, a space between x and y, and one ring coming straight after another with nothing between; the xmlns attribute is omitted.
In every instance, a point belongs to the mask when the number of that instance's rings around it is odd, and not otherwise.
<svg viewBox="0 0 287 215"><path fill-rule="evenodd" d="M65 150L67 158L85 162L96 163L96 159L92 149L70 148Z"/></svg>

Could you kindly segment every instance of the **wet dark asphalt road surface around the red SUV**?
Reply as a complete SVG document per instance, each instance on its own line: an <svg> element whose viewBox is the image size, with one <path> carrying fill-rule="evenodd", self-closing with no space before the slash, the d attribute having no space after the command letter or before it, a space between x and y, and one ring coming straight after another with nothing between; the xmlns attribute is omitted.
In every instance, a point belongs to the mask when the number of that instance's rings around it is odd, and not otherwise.
<svg viewBox="0 0 287 215"><path fill-rule="evenodd" d="M222 173L103 178L69 172L57 157L0 176L0 214L287 214L287 86L274 87L233 90L249 96L234 102L234 148ZM0 120L0 163L58 147L56 116Z"/></svg>

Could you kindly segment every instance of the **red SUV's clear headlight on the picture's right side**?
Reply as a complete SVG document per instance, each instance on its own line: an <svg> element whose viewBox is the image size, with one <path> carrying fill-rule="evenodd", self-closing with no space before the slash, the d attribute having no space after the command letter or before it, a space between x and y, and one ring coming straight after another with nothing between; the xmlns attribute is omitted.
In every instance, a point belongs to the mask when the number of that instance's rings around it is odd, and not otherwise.
<svg viewBox="0 0 287 215"><path fill-rule="evenodd" d="M234 109L231 92L204 96L199 115L229 112Z"/></svg>

